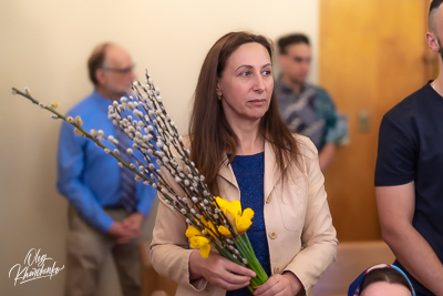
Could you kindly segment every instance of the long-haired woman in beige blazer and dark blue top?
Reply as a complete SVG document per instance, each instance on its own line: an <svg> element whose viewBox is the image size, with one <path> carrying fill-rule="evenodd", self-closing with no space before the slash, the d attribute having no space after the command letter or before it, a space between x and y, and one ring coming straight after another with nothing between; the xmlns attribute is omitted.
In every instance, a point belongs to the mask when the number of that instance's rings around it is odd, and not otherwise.
<svg viewBox="0 0 443 296"><path fill-rule="evenodd" d="M251 169L249 177L262 182L256 204L262 213L253 223L265 225L266 238L253 243L265 244L266 254L258 255L266 256L258 257L267 261L261 263L270 277L255 295L305 295L333 263L337 237L317 150L307 137L292 135L279 116L271 53L266 38L248 32L228 33L213 45L195 92L190 157L213 194L245 207L239 181L249 173L238 175L233 165L236 157L262 155L262 173ZM176 295L248 295L239 289L255 273L216 252L203 258L189 249L186 228L179 213L159 204L152 263L179 284Z"/></svg>

